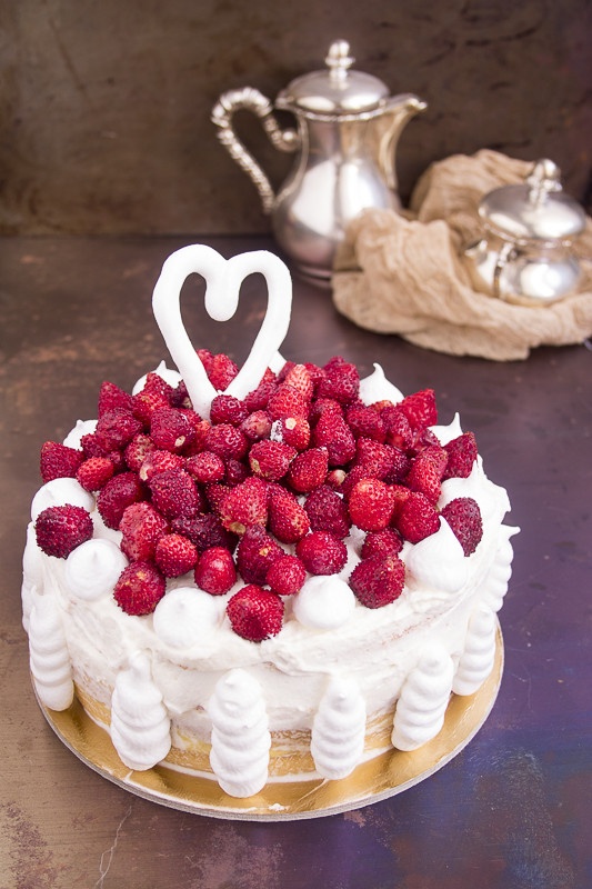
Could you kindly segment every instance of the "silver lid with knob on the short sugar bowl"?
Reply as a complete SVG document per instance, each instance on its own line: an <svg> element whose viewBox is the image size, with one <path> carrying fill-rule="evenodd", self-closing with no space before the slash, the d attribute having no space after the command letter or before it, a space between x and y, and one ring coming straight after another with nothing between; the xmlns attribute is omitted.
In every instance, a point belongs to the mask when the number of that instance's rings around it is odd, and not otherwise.
<svg viewBox="0 0 592 889"><path fill-rule="evenodd" d="M539 160L524 184L502 186L485 194L479 216L506 239L561 241L581 234L584 211L563 192L560 178L552 160Z"/></svg>

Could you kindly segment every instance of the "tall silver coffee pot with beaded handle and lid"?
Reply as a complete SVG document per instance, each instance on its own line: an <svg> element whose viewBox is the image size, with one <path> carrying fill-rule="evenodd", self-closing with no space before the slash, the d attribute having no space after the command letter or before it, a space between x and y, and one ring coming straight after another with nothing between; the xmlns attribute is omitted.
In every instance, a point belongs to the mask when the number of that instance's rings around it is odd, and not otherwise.
<svg viewBox="0 0 592 889"><path fill-rule="evenodd" d="M327 69L293 80L274 106L251 87L223 93L212 110L218 138L252 179L271 216L279 246L303 273L329 279L347 223L367 208L399 211L395 150L408 120L427 108L412 93L389 96L378 78L350 70L344 40L329 48ZM240 109L261 119L271 143L297 154L275 194L261 166L239 140ZM274 109L294 114L297 129L282 129Z"/></svg>

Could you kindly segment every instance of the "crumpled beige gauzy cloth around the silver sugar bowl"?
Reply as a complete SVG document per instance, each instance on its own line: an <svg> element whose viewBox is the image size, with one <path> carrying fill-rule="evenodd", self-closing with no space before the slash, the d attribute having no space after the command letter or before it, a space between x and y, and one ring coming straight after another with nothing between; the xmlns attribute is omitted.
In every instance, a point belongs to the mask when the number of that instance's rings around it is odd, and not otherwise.
<svg viewBox="0 0 592 889"><path fill-rule="evenodd" d="M478 292L461 259L482 237L476 208L499 186L522 182L532 162L482 150L432 164L405 216L365 211L349 227L332 278L337 309L360 327L415 346L496 361L592 334L592 220L574 244L579 290L552 306L514 306Z"/></svg>

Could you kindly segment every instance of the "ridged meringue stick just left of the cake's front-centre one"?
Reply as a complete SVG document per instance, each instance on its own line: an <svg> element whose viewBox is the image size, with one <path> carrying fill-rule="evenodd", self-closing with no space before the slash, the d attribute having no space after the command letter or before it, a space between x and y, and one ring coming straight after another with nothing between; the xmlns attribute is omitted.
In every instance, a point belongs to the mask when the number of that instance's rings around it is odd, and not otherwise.
<svg viewBox="0 0 592 889"><path fill-rule="evenodd" d="M152 681L150 658L137 651L116 679L111 698L111 740L130 769L151 769L171 748L171 726L162 695Z"/></svg>

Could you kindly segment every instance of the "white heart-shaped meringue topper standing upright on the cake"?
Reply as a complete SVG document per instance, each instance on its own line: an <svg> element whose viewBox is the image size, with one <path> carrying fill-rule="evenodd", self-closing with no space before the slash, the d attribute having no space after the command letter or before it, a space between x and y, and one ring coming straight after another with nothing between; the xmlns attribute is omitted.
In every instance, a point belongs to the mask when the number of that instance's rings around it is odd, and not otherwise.
<svg viewBox="0 0 592 889"><path fill-rule="evenodd" d="M181 318L181 288L193 272L205 279L205 310L214 321L228 321L239 304L241 283L260 272L268 287L268 310L247 361L227 394L243 399L261 381L275 358L290 324L292 280L284 263L267 250L254 250L224 259L205 244L190 244L172 253L154 287L152 310L189 397L201 417L209 418L212 399L219 394L189 339Z"/></svg>

